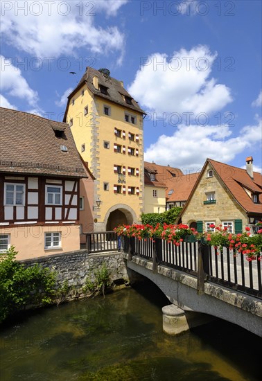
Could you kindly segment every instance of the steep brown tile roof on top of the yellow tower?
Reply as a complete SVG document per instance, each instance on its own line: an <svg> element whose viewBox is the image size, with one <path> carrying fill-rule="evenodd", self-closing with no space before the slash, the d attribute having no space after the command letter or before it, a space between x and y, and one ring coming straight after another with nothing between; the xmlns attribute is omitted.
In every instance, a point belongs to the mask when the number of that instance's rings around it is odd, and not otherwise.
<svg viewBox="0 0 262 381"><path fill-rule="evenodd" d="M107 87L107 94L101 93L100 90L96 89L93 85L93 78L94 76L98 77L98 84L103 85L104 87ZM121 81L116 80L115 78L112 78L110 76L105 76L101 71L93 69L92 67L87 67L85 74L80 79L80 82L78 82L78 85L76 89L72 91L72 93L69 95L69 99L72 98L73 94L76 93L83 85L87 85L89 90L96 96L99 96L101 98L105 98L107 100L110 100L111 102L118 103L119 105L124 106L126 109L132 109L137 112L141 112L142 114L146 114L143 109L141 109L138 105L138 103L132 98L132 96L126 91L123 86L121 85ZM123 100L123 96L128 96L131 98L131 105L128 105L128 103L125 103L125 100ZM68 107L67 107L68 108ZM67 114L67 111L65 112Z"/></svg>

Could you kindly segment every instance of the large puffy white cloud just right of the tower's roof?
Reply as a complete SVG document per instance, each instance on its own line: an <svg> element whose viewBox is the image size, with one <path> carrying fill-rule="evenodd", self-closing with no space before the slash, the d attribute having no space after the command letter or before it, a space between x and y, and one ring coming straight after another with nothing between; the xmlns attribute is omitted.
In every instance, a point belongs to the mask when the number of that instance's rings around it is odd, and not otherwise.
<svg viewBox="0 0 262 381"><path fill-rule="evenodd" d="M169 57L154 53L141 57L141 68L128 87L149 112L213 113L232 102L230 89L210 78L217 53L207 46L182 48Z"/></svg>

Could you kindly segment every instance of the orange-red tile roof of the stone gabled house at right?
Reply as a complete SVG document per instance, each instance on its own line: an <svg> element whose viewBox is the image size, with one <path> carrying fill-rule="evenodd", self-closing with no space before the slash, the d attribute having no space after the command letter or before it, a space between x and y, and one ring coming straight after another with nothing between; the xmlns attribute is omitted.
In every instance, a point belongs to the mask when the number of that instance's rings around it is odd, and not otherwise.
<svg viewBox="0 0 262 381"><path fill-rule="evenodd" d="M254 179L251 179L245 169L229 166L212 159L207 159L207 161L209 161L213 169L216 170L220 179L222 179L238 204L240 204L245 211L262 213L262 175L259 172L254 172ZM260 193L260 204L256 204L252 201L243 186L249 190Z"/></svg>

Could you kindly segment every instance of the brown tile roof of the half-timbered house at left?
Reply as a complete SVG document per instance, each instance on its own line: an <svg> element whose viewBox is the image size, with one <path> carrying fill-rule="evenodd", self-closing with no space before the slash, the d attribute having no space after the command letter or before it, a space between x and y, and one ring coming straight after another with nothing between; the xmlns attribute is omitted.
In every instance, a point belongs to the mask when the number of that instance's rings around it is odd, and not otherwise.
<svg viewBox="0 0 262 381"><path fill-rule="evenodd" d="M0 107L0 136L0 172L86 177L66 123Z"/></svg>

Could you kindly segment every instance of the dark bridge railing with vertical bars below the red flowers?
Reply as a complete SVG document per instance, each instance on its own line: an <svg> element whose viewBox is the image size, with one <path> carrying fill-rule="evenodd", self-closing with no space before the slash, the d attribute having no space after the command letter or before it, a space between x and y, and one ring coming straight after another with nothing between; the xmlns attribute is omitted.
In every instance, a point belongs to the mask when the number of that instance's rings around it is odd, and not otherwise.
<svg viewBox="0 0 262 381"><path fill-rule="evenodd" d="M164 265L197 276L198 292L204 291L204 282L210 281L239 290L256 297L262 297L261 262L248 262L243 254L224 247L221 253L204 243L181 242L176 246L166 240L139 240L122 237L122 247L129 258L139 256L152 261L153 270Z"/></svg>

